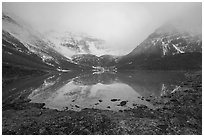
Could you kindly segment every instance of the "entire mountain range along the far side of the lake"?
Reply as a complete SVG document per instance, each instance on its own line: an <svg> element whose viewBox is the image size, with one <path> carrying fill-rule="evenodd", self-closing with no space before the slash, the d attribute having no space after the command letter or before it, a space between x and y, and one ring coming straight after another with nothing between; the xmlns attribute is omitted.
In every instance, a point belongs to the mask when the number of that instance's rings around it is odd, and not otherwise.
<svg viewBox="0 0 204 137"><path fill-rule="evenodd" d="M41 34L10 13L3 12L2 28L4 74L115 68L183 70L202 67L201 33L193 29L183 30L172 24L159 27L124 56L106 55L104 41L87 34L52 31ZM23 70L27 71L24 73Z"/></svg>

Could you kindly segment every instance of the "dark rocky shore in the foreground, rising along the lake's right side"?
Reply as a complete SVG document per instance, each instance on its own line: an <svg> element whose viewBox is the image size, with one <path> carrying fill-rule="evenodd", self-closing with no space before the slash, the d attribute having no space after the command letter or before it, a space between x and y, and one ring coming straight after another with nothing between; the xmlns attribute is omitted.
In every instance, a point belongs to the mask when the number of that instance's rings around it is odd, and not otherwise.
<svg viewBox="0 0 204 137"><path fill-rule="evenodd" d="M201 135L202 72L186 73L187 81L160 97L144 98L156 106L138 106L124 111L83 109L57 111L21 97L3 104L2 134L25 135Z"/></svg>

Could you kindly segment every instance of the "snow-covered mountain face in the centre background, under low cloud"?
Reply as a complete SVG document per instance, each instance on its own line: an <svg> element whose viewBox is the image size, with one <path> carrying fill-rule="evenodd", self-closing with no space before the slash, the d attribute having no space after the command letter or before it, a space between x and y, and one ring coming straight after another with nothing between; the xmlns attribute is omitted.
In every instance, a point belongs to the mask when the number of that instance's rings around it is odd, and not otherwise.
<svg viewBox="0 0 204 137"><path fill-rule="evenodd" d="M87 34L74 32L49 31L44 34L53 48L70 58L76 54L93 54L96 56L106 53L105 41Z"/></svg>

